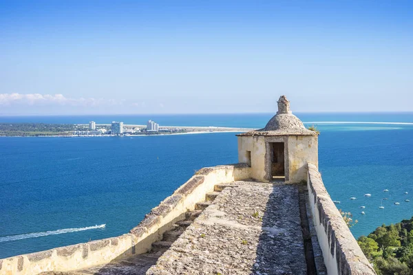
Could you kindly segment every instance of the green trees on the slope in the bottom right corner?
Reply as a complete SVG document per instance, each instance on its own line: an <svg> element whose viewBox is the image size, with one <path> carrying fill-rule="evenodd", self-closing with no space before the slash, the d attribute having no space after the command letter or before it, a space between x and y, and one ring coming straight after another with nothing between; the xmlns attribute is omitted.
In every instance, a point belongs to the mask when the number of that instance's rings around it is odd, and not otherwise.
<svg viewBox="0 0 413 275"><path fill-rule="evenodd" d="M361 250L379 275L413 275L413 217L360 236Z"/></svg>

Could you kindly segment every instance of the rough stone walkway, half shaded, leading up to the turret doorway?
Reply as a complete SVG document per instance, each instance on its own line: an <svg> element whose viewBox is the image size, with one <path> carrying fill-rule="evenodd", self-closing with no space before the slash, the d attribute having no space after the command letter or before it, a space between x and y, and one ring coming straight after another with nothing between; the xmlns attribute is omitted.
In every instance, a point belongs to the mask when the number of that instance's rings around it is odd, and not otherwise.
<svg viewBox="0 0 413 275"><path fill-rule="evenodd" d="M297 186L235 184L147 274L307 274Z"/></svg>

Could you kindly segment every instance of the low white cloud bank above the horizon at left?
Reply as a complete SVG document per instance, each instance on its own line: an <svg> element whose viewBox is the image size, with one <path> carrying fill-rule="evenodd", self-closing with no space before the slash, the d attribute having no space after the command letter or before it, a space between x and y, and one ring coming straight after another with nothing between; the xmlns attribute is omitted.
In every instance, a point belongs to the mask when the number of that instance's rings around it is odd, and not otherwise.
<svg viewBox="0 0 413 275"><path fill-rule="evenodd" d="M124 100L103 98L66 98L63 94L0 94L0 105L48 105L97 107L102 105L122 105Z"/></svg>

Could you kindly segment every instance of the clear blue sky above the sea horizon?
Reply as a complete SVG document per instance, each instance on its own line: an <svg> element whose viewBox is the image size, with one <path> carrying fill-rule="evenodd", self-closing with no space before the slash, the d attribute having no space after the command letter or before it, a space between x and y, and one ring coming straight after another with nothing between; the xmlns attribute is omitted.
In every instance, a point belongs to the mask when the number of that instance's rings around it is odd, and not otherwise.
<svg viewBox="0 0 413 275"><path fill-rule="evenodd" d="M2 1L0 114L413 111L413 1Z"/></svg>

